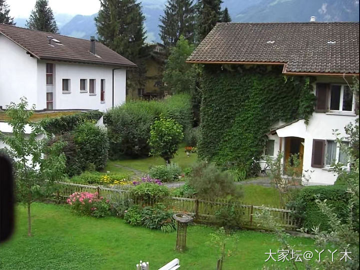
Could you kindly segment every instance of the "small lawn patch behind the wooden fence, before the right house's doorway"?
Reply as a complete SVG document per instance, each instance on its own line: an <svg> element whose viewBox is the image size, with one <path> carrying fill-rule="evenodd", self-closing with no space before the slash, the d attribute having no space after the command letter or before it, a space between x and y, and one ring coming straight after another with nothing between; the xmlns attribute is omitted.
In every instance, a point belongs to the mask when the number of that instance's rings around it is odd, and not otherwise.
<svg viewBox="0 0 360 270"><path fill-rule="evenodd" d="M252 205L266 205L272 207L282 207L279 191L274 187L260 185L241 185L243 190L242 201Z"/></svg>

